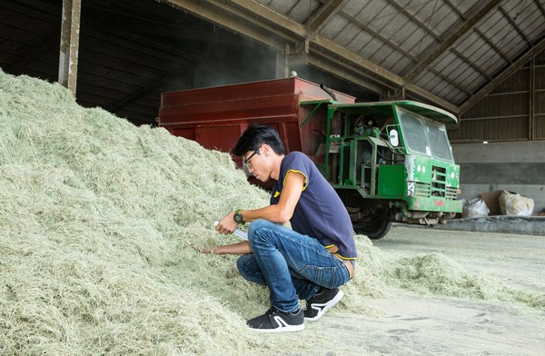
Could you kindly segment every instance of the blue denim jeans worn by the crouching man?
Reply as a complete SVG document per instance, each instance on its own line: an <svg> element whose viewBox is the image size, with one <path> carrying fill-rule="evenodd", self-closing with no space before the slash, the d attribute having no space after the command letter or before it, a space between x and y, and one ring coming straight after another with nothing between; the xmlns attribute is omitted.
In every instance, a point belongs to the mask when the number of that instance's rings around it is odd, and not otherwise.
<svg viewBox="0 0 545 356"><path fill-rule="evenodd" d="M236 265L243 278L269 287L271 304L295 312L299 299L308 300L320 287L335 288L349 281L344 264L318 240L266 220L248 229L253 253Z"/></svg>

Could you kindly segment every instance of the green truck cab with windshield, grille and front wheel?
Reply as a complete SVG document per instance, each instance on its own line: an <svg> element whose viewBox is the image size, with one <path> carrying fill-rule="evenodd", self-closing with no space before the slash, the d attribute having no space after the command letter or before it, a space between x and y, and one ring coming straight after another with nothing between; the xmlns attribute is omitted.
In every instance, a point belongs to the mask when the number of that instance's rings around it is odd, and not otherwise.
<svg viewBox="0 0 545 356"><path fill-rule="evenodd" d="M445 128L457 123L454 115L412 101L300 104L310 113L302 126L325 117L323 160L315 163L355 232L380 239L391 222L431 226L461 213L460 166Z"/></svg>

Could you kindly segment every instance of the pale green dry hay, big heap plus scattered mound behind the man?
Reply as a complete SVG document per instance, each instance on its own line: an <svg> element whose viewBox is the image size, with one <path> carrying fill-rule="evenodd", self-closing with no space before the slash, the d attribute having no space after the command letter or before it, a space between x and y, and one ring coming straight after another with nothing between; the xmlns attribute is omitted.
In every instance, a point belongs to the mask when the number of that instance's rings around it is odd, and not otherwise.
<svg viewBox="0 0 545 356"><path fill-rule="evenodd" d="M243 281L236 256L190 248L236 241L211 223L267 203L228 154L0 70L0 353L315 353L247 330L245 320L268 307L266 290ZM364 236L357 243L358 276L338 307L345 311L370 312L366 298L392 286L506 294L459 266L453 276L444 256L399 259ZM472 286L479 292L467 293Z"/></svg>

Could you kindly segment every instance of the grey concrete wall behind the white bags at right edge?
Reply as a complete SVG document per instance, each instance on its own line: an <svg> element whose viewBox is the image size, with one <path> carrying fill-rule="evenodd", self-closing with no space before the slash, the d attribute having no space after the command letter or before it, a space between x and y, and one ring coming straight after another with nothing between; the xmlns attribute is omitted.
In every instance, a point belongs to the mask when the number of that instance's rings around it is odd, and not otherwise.
<svg viewBox="0 0 545 356"><path fill-rule="evenodd" d="M545 211L545 141L453 143L459 163L461 198L505 190L534 200L533 213Z"/></svg>

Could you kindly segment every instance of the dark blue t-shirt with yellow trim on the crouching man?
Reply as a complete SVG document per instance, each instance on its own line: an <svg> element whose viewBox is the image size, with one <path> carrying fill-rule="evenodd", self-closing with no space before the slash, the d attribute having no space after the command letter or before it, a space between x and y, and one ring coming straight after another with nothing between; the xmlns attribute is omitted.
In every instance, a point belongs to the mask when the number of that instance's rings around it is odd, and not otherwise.
<svg viewBox="0 0 545 356"><path fill-rule="evenodd" d="M337 246L337 253L343 258L356 258L350 216L332 185L304 153L292 152L282 159L278 182L272 188L271 204L279 202L289 172L301 173L305 178L301 198L290 220L293 231L318 239L323 246Z"/></svg>

